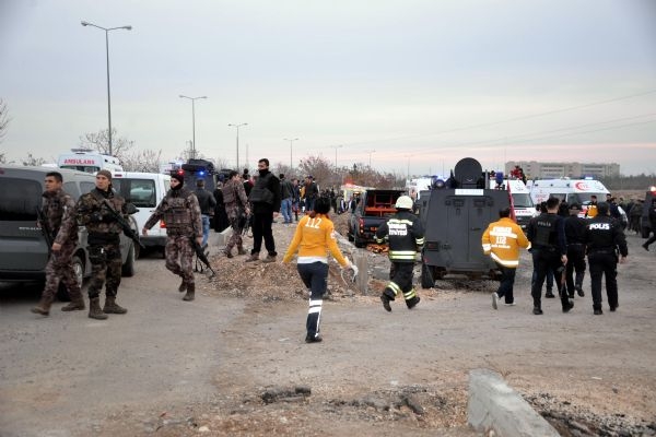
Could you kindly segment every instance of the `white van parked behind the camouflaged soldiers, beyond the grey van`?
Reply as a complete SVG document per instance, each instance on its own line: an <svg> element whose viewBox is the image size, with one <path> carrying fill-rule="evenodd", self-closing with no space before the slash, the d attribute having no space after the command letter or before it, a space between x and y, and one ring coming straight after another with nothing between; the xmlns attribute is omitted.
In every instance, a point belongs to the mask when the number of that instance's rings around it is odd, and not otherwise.
<svg viewBox="0 0 656 437"><path fill-rule="evenodd" d="M127 202L133 203L139 210L132 217L137 221L139 233L155 208L160 204L166 191L171 188L171 175L161 173L116 172L112 179L114 189ZM145 247L163 249L166 246L166 227L160 221L148 235L141 236Z"/></svg>

